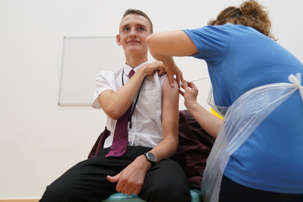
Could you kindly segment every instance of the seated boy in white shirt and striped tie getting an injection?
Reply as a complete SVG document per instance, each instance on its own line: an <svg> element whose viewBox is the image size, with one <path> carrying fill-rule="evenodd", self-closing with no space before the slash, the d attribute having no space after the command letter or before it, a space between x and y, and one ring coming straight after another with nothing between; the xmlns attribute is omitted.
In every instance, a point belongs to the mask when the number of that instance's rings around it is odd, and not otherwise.
<svg viewBox="0 0 303 202"><path fill-rule="evenodd" d="M145 38L151 33L144 12L124 13L116 42L126 62L115 72L98 74L92 104L108 116L111 134L98 157L65 172L40 201L101 202L116 192L152 202L191 201L185 173L172 160L178 146L178 85L170 86L162 62L148 61Z"/></svg>

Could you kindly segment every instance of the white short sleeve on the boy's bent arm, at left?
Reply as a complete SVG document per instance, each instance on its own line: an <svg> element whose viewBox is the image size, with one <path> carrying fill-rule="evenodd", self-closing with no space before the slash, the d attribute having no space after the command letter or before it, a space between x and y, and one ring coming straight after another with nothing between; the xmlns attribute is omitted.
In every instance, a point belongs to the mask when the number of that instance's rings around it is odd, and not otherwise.
<svg viewBox="0 0 303 202"><path fill-rule="evenodd" d="M95 80L95 94L92 108L101 109L101 106L98 102L100 93L106 90L116 91L115 86L111 86L110 84L115 84L115 78L112 72L102 71L97 75L97 78Z"/></svg>

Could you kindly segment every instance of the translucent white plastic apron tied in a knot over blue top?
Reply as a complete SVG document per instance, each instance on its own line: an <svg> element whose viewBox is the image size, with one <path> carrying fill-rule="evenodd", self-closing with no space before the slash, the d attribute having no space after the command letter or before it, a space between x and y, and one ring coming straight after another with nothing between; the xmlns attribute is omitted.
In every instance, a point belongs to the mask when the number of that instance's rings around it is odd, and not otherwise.
<svg viewBox="0 0 303 202"><path fill-rule="evenodd" d="M219 200L222 175L235 150L252 134L259 124L283 101L299 90L303 101L301 73L290 75L291 83L275 83L253 88L242 94L228 109L218 133L201 182L204 202Z"/></svg>

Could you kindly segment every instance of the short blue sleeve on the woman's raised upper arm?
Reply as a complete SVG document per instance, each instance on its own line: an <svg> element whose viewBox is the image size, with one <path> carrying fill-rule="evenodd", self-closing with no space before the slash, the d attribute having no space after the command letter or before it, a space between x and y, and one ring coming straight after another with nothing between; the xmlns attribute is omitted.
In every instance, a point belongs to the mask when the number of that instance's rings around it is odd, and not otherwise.
<svg viewBox="0 0 303 202"><path fill-rule="evenodd" d="M199 53L192 57L205 60L210 67L218 66L225 58L230 41L229 25L205 26L198 29L184 29L194 42Z"/></svg>

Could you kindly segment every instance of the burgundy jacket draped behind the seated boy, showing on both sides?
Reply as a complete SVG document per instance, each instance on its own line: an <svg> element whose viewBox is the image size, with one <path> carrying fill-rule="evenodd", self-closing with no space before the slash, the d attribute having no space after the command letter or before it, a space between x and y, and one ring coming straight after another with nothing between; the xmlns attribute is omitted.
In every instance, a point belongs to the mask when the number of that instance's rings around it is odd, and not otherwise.
<svg viewBox="0 0 303 202"><path fill-rule="evenodd" d="M103 148L105 139L110 132L105 130L99 135L88 158L96 157ZM192 117L188 110L179 111L179 145L177 153L179 164L183 168L191 189L200 190L201 179L206 160L215 142Z"/></svg>

